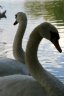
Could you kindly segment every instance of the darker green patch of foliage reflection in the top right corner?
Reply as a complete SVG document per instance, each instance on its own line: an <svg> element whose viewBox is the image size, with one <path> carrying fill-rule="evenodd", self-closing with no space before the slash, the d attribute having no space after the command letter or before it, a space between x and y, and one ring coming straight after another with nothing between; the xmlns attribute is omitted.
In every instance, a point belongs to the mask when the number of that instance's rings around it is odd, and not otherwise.
<svg viewBox="0 0 64 96"><path fill-rule="evenodd" d="M56 20L58 23L64 23L64 0L45 2L44 7L47 10L46 19L52 21Z"/></svg>

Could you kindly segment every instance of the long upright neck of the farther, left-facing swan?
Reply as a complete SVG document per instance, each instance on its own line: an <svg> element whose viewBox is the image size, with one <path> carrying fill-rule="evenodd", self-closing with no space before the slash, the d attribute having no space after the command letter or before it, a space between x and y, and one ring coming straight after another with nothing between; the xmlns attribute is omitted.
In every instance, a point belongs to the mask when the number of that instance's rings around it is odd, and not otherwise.
<svg viewBox="0 0 64 96"><path fill-rule="evenodd" d="M24 59L24 51L22 49L22 39L24 36L26 25L27 25L27 21L19 23L18 30L15 35L14 43L13 43L13 55L15 59L24 64L25 64L25 59Z"/></svg>

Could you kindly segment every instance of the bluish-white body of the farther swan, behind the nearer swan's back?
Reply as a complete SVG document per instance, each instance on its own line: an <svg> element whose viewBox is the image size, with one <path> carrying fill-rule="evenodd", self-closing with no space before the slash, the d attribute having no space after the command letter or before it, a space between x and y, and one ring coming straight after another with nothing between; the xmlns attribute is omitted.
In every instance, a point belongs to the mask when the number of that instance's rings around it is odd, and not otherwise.
<svg viewBox="0 0 64 96"><path fill-rule="evenodd" d="M10 58L0 58L0 76L12 74L28 75L27 66L17 60Z"/></svg>

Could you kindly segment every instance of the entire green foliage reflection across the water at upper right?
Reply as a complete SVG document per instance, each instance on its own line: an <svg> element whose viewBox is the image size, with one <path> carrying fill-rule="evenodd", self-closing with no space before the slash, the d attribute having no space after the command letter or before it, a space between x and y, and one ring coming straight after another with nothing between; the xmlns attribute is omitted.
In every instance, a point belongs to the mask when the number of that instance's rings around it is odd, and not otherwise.
<svg viewBox="0 0 64 96"><path fill-rule="evenodd" d="M64 25L64 0L26 1L25 10L32 18L44 16L47 21L55 21L59 26Z"/></svg>

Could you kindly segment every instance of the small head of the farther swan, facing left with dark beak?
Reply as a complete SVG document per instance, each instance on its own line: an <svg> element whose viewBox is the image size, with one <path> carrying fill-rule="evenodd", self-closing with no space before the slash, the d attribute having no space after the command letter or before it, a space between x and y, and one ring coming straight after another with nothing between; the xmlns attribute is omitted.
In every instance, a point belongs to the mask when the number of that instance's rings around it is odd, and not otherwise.
<svg viewBox="0 0 64 96"><path fill-rule="evenodd" d="M15 19L16 19L16 21L14 22L14 25L16 25L17 23L26 22L26 21L27 21L27 16L26 16L26 14L23 13L23 12L18 12L18 13L15 15Z"/></svg>

